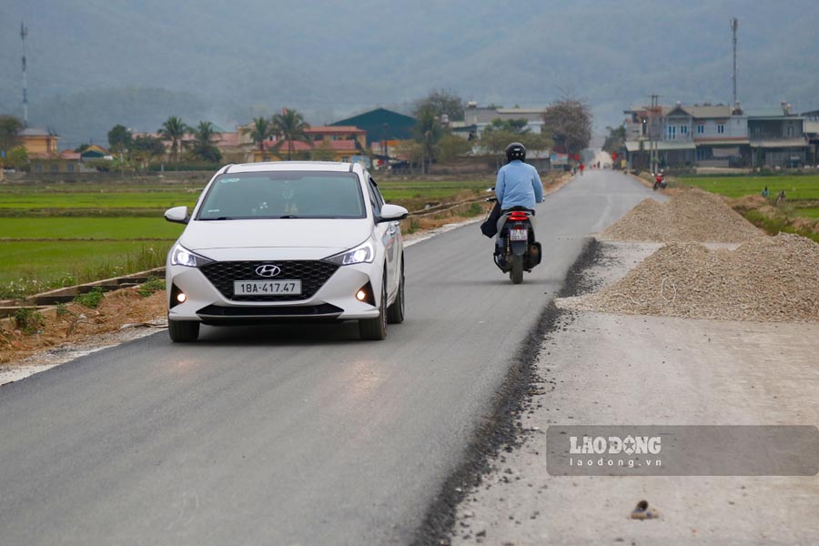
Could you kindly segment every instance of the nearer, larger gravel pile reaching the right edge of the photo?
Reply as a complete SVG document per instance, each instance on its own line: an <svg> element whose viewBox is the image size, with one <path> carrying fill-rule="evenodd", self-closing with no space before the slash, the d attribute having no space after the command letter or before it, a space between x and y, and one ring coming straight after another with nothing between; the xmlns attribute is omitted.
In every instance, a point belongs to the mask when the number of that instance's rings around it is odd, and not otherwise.
<svg viewBox="0 0 819 546"><path fill-rule="evenodd" d="M735 250L666 245L600 292L562 308L761 322L819 321L819 244L790 234Z"/></svg>

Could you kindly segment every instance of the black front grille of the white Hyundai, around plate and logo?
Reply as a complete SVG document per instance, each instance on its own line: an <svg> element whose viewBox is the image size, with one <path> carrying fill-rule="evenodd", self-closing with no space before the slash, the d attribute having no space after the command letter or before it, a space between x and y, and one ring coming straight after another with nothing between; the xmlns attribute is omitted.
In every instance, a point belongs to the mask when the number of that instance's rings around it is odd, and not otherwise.
<svg viewBox="0 0 819 546"><path fill-rule="evenodd" d="M256 268L275 264L281 268L276 278L301 280L301 294L234 296L233 282L236 280L275 280L259 277ZM339 266L319 260L294 261L232 261L211 262L199 268L213 286L227 299L234 301L294 301L312 298Z"/></svg>

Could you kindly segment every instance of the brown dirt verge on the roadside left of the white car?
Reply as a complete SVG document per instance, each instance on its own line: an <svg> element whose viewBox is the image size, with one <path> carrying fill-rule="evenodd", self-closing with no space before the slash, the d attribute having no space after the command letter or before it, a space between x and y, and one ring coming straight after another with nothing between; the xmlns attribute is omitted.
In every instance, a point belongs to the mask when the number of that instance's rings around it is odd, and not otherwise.
<svg viewBox="0 0 819 546"><path fill-rule="evenodd" d="M165 315L165 290L147 298L136 288L108 292L97 308L78 303L60 307L56 317L44 316L30 334L22 329L0 329L0 370L47 349L68 349L100 335L148 324Z"/></svg>

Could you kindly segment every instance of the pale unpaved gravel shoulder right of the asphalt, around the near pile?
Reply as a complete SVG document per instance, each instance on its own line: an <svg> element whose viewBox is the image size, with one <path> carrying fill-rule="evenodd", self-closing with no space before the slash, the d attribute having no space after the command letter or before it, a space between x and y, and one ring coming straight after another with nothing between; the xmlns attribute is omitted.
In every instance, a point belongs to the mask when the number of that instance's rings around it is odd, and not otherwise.
<svg viewBox="0 0 819 546"><path fill-rule="evenodd" d="M656 245L602 245L610 285ZM558 300L560 305L560 300ZM457 544L804 544L819 540L819 477L556 477L550 425L815 425L819 324L564 310L533 370L522 443L458 508ZM629 516L649 501L661 517Z"/></svg>

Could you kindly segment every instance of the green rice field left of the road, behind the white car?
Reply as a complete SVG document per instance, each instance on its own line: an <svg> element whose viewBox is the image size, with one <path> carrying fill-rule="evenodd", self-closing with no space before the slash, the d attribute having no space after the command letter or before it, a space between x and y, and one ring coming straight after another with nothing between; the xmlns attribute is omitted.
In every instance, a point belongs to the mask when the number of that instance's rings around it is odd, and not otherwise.
<svg viewBox="0 0 819 546"><path fill-rule="evenodd" d="M477 195L492 180L379 180L385 199L412 209ZM165 265L184 226L170 207L193 207L202 186L0 185L0 299Z"/></svg>

